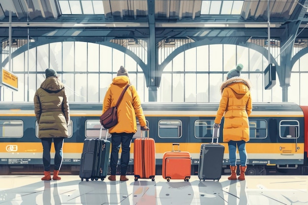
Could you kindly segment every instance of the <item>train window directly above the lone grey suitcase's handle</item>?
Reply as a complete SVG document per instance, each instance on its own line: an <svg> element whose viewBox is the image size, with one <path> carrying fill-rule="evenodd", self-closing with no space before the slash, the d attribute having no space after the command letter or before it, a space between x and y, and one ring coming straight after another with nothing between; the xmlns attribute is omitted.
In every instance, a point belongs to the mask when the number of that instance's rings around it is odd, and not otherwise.
<svg viewBox="0 0 308 205"><path fill-rule="evenodd" d="M212 138L214 120L196 120L195 138Z"/></svg>

